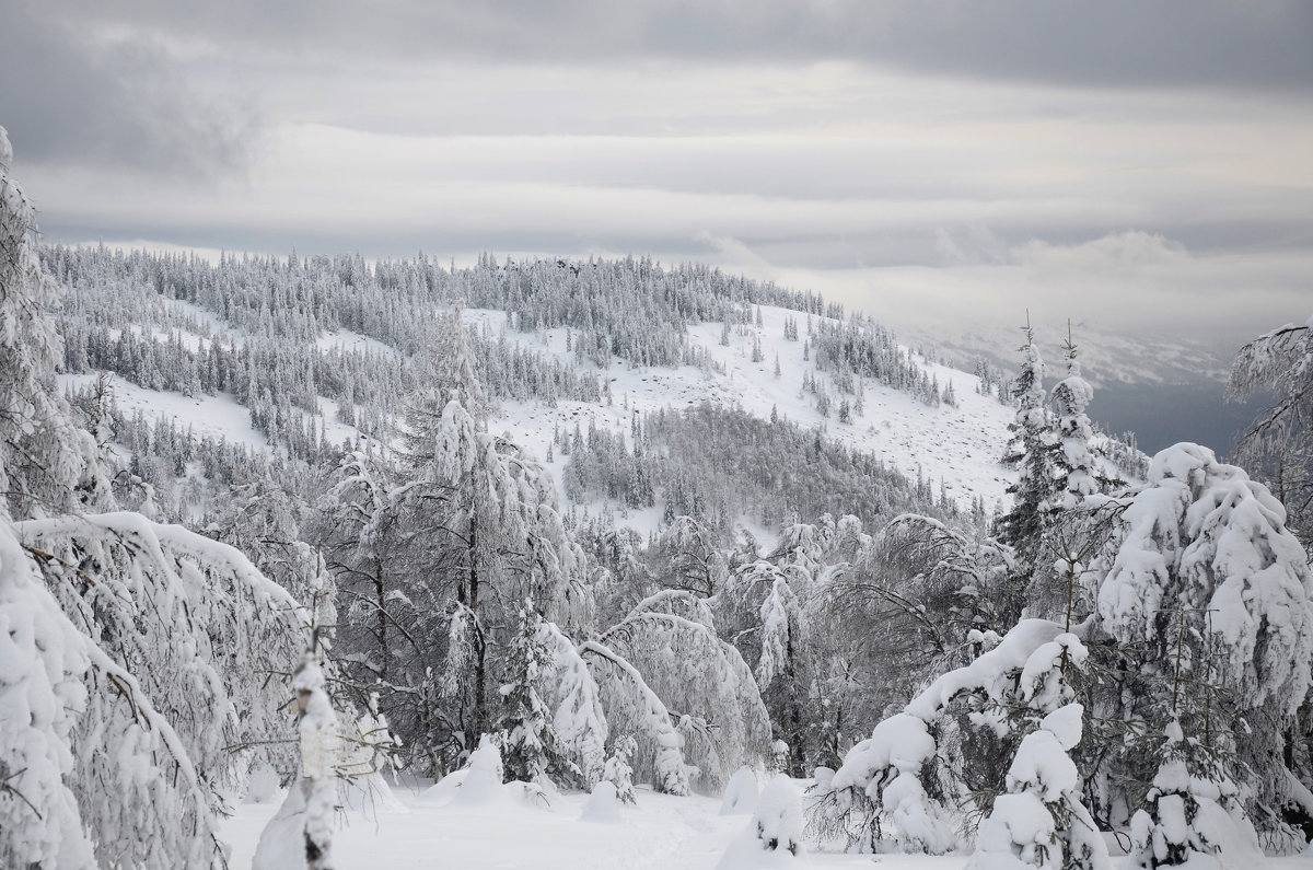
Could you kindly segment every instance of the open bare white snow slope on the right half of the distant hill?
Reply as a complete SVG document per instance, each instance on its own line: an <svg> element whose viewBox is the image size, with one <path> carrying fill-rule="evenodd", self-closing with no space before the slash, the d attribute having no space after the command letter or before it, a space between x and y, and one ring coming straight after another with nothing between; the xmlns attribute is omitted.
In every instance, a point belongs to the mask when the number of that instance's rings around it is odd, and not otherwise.
<svg viewBox="0 0 1313 870"><path fill-rule="evenodd" d="M944 365L926 367L939 378L940 389L952 382L957 407L930 407L905 392L867 380L864 415L853 415L851 423L840 423L834 411L829 418L822 417L815 410L815 397L802 390L804 373L813 372L819 382L829 386L836 402L842 398L830 372L815 371L814 356L802 359L807 315L768 305L760 306L760 310L762 326L731 330L729 346L721 344L722 325L718 322L689 329L689 340L705 348L725 368L723 373L704 372L692 365L632 368L624 360L599 369L590 361L578 363L574 354L566 351L565 329L546 330L545 335L509 330L507 340L550 354L580 372L608 380L612 405L562 401L553 409L537 402L503 401L492 424L511 432L517 443L541 459L546 456L557 426L572 432L578 423L587 432L590 421L596 421L599 428L609 428L628 439L634 410L647 413L712 402L725 407L739 406L754 417L768 419L775 407L781 419L809 428L821 424L830 438L878 456L913 480L919 465L935 492L943 478L949 498L965 509L970 507L977 494L983 495L986 509L1004 499L1004 490L1016 474L1003 468L999 457L1007 446L1007 424L1015 411L997 398L978 396L979 380L974 375ZM492 338L506 330L506 311L466 309L463 315L466 323L487 330ZM798 323L797 342L784 338L786 318ZM815 322L822 319L813 315ZM758 363L752 361L754 339L762 344L762 360ZM776 356L780 377L775 377ZM558 477L563 465L558 459L554 465Z"/></svg>

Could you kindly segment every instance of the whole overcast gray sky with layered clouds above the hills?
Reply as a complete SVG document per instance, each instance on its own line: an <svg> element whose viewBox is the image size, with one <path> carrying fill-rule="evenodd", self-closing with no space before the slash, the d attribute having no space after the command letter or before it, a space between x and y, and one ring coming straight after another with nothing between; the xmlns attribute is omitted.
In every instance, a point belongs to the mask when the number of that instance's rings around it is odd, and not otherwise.
<svg viewBox="0 0 1313 870"><path fill-rule="evenodd" d="M653 254L893 323L1313 313L1305 0L8 0L47 239Z"/></svg>

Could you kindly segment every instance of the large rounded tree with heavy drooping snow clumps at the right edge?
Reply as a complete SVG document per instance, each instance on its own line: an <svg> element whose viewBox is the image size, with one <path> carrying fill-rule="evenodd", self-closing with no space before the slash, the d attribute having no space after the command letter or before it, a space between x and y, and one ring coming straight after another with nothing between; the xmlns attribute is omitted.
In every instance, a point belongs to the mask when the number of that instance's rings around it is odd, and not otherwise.
<svg viewBox="0 0 1313 870"><path fill-rule="evenodd" d="M1125 499L1090 573L1099 630L1142 651L1121 677L1120 697L1132 702L1116 715L1142 718L1159 733L1179 715L1191 733L1225 741L1232 716L1204 721L1169 711L1165 699L1175 700L1183 682L1216 685L1239 719L1238 758L1255 774L1250 808L1267 807L1268 816L1291 798L1285 727L1313 662L1313 570L1284 523L1266 486L1204 447L1176 444ZM1157 767L1153 756L1140 764L1150 767L1145 778Z"/></svg>

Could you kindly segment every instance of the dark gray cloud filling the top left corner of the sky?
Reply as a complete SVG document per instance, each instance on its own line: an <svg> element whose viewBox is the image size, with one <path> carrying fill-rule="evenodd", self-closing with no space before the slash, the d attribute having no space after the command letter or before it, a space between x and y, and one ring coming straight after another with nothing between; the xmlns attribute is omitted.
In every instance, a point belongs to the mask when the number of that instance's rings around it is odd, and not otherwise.
<svg viewBox="0 0 1313 870"><path fill-rule="evenodd" d="M210 175L240 166L249 117L189 91L148 38L92 41L50 5L8 4L0 26L0 124L20 163Z"/></svg>

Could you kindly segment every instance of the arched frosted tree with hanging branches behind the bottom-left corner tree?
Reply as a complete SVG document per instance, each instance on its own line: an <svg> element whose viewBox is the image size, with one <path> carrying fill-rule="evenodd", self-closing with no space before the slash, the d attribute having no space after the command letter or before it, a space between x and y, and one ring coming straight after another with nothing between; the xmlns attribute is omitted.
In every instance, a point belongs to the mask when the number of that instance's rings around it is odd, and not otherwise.
<svg viewBox="0 0 1313 870"><path fill-rule="evenodd" d="M261 746L285 728L286 678L251 674L286 674L299 658L298 603L236 549L139 514L28 520L17 532L64 611L137 675L192 762L240 785L244 760L269 754Z"/></svg>

